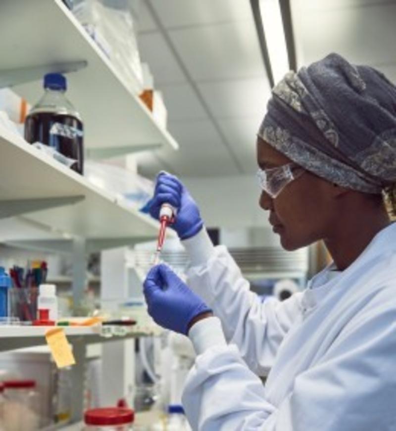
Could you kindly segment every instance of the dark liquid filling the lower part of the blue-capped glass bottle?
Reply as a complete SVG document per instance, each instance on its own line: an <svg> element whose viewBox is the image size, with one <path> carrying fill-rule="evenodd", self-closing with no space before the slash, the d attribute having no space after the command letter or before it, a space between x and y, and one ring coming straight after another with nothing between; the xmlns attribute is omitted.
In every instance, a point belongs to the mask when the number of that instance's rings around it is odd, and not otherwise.
<svg viewBox="0 0 396 431"><path fill-rule="evenodd" d="M52 112L37 112L25 120L25 140L30 144L41 142L66 157L77 160L70 167L83 174L83 123L76 117Z"/></svg>

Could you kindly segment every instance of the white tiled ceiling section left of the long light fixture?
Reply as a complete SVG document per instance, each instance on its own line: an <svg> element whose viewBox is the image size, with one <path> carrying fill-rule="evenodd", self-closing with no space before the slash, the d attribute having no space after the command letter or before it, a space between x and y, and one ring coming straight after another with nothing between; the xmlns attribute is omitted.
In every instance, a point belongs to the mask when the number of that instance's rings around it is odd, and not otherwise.
<svg viewBox="0 0 396 431"><path fill-rule="evenodd" d="M142 1L138 42L180 144L179 151L139 155L140 171L253 175L270 88L249 1Z"/></svg>

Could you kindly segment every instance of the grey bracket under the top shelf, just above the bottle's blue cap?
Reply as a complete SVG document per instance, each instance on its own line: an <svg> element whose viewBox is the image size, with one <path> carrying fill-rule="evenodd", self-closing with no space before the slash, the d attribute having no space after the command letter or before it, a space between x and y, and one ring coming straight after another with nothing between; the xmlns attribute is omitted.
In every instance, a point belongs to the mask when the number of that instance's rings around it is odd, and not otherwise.
<svg viewBox="0 0 396 431"><path fill-rule="evenodd" d="M0 70L0 88L13 87L30 81L42 79L46 73L68 73L83 69L87 61L42 64L40 66Z"/></svg>

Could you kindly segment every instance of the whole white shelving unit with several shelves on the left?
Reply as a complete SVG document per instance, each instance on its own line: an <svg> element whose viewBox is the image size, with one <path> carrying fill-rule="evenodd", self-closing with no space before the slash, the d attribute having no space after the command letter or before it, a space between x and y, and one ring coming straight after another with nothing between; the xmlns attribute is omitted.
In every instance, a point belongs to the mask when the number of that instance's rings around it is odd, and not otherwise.
<svg viewBox="0 0 396 431"><path fill-rule="evenodd" d="M67 73L67 97L83 118L88 154L122 155L159 146L177 149L172 136L124 85L61 0L1 1L0 52L0 88L12 87L30 103L42 95L45 73ZM71 252L75 304L82 298L88 252L156 238L158 223L17 135L0 130L0 154L0 240ZM117 285L110 280L105 278L103 284L113 291L110 287ZM47 329L0 326L0 351L43 345ZM118 385L122 392L133 382L134 338L154 335L155 327L132 327L127 334L110 338L103 337L98 326L64 330L77 363L71 377L76 423L84 404L87 345L104 342L104 386ZM113 342L111 348L108 341Z"/></svg>

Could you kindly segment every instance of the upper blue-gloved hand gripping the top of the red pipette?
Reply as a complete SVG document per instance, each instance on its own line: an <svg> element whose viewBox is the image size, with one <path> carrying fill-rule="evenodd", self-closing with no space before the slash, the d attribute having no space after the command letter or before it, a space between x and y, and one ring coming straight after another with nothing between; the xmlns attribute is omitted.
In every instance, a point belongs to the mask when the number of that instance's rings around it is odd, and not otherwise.
<svg viewBox="0 0 396 431"><path fill-rule="evenodd" d="M158 220L163 203L169 203L177 210L176 220L170 226L180 239L192 238L202 229L203 221L191 194L177 177L166 172L160 172L157 176L149 209L151 217Z"/></svg>

